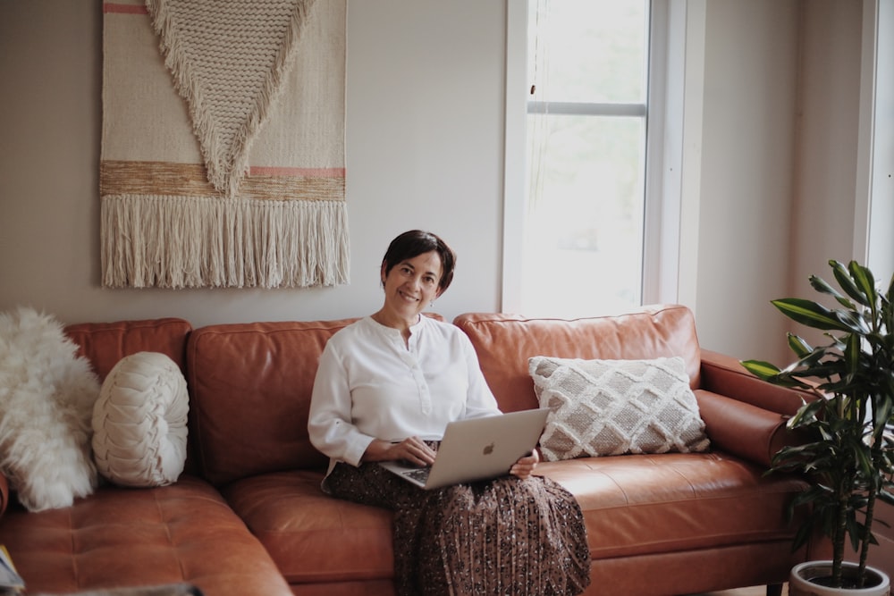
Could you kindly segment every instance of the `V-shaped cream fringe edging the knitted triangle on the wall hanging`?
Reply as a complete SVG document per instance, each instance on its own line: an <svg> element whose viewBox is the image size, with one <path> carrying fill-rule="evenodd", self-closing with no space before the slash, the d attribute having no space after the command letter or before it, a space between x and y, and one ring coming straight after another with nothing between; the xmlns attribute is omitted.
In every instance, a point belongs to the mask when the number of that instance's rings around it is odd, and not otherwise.
<svg viewBox="0 0 894 596"><path fill-rule="evenodd" d="M192 1L192 0L190 0ZM308 20L308 13L315 0L293 0L294 11L291 13L291 21L285 32L283 45L275 55L273 68L264 80L262 88L258 90L252 110L246 122L240 125L234 139L224 139L221 134L220 122L215 119L215 113L210 105L221 101L220 97L207 97L202 88L202 78L198 76L196 64L190 61L183 42L188 36L182 32L176 24L173 11L164 0L146 0L146 6L152 15L152 24L159 38L159 46L164 55L164 64L173 75L174 88L186 99L190 111L190 120L193 130L199 141L202 157L207 168L208 181L214 185L218 192L226 197L235 197L239 191L240 182L248 171L249 149L255 139L257 131L266 122L267 115L273 110L275 102L283 87L283 78L294 62L295 48L301 36L301 31ZM215 13L214 5L208 9ZM236 54L229 59L233 69L243 56ZM216 56L214 59L220 59Z"/></svg>

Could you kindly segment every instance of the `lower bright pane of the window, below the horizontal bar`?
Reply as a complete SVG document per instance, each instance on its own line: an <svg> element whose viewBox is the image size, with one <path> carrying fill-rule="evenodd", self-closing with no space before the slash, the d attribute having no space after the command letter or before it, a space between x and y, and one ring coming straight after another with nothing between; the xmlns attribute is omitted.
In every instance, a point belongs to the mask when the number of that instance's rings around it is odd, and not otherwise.
<svg viewBox="0 0 894 596"><path fill-rule="evenodd" d="M525 313L586 316L639 305L645 120L529 115L529 132L538 127L545 142L532 147L538 156L529 164L537 191L525 216Z"/></svg>

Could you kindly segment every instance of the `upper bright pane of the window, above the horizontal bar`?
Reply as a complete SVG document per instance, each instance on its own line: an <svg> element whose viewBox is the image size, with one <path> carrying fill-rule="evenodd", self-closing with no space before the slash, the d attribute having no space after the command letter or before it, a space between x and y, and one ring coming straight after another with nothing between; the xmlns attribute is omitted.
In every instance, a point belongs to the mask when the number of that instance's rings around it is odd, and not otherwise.
<svg viewBox="0 0 894 596"><path fill-rule="evenodd" d="M529 0L539 101L645 104L646 0Z"/></svg>

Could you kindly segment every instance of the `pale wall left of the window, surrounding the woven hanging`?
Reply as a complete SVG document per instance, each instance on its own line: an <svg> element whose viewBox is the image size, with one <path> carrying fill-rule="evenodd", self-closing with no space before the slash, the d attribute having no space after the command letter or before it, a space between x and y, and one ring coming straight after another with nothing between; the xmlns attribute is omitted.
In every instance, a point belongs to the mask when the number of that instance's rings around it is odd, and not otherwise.
<svg viewBox="0 0 894 596"><path fill-rule="evenodd" d="M197 326L366 315L381 305L387 243L417 227L459 253L434 310L498 308L503 3L349 3L351 282L309 290L99 286L101 4L0 0L0 311Z"/></svg>

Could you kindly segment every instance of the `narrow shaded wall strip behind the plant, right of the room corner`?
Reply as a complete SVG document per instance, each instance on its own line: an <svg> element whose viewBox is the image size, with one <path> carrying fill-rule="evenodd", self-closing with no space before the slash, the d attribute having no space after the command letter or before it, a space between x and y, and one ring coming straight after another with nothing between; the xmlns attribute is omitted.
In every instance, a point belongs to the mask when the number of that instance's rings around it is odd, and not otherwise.
<svg viewBox="0 0 894 596"><path fill-rule="evenodd" d="M804 5L789 285L798 296L819 297L807 280L831 281L829 259L865 262L865 246L855 249L862 29L860 2Z"/></svg>

